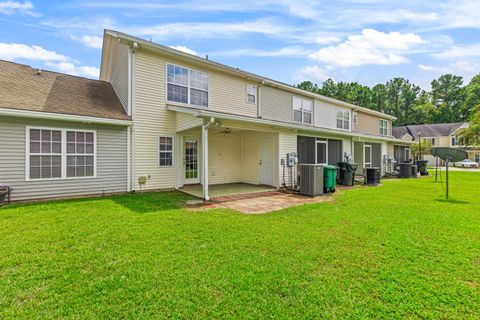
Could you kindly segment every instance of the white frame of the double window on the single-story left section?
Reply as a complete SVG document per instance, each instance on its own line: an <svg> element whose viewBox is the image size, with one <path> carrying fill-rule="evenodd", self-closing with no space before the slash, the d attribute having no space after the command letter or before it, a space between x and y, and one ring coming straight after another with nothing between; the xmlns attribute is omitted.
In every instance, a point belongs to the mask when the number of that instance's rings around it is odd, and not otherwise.
<svg viewBox="0 0 480 320"><path fill-rule="evenodd" d="M58 178L30 178L30 130L53 130L61 132L61 170L62 174ZM67 131L89 132L93 133L93 154L81 154L81 156L93 156L93 176L85 177L67 177L67 155L75 156L76 154L67 154ZM36 155L36 154L33 154ZM25 126L25 181L54 181L54 180L76 180L76 179L95 179L97 178L97 130L81 129L81 128L55 128L55 127L37 127Z"/></svg>

